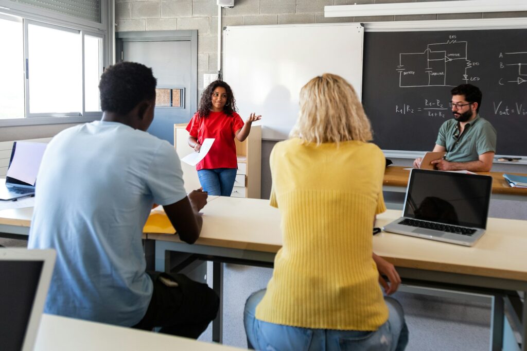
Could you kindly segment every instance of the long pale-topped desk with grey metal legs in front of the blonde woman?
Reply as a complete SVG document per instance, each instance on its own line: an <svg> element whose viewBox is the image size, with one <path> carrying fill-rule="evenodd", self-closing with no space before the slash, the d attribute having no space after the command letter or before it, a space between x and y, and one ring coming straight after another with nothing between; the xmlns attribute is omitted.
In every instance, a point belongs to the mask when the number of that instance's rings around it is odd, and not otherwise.
<svg viewBox="0 0 527 351"><path fill-rule="evenodd" d="M213 285L221 294L222 265L272 267L281 247L280 213L268 200L220 197L202 210L203 229L194 245L181 242L178 236L149 233L155 240L155 268L170 267L168 251L196 253L214 261ZM380 214L377 226L398 218L400 211ZM493 349L501 349L503 309L510 291L527 291L527 221L490 218L487 232L474 247L380 233L374 237L375 252L392 262L411 285L444 287L494 296ZM521 314L527 320L527 307ZM523 331L523 349L527 323ZM215 329L215 331L214 331ZM221 323L213 327L213 337L220 337ZM216 339L218 340L218 339Z"/></svg>

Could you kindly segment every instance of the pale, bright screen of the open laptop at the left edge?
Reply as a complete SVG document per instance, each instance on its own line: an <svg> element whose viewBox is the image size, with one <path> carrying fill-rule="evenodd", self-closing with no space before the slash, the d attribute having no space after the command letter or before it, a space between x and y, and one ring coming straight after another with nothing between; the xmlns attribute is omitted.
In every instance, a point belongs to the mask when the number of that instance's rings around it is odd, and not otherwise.
<svg viewBox="0 0 527 351"><path fill-rule="evenodd" d="M46 146L45 143L17 141L13 161L7 170L7 177L34 185Z"/></svg>

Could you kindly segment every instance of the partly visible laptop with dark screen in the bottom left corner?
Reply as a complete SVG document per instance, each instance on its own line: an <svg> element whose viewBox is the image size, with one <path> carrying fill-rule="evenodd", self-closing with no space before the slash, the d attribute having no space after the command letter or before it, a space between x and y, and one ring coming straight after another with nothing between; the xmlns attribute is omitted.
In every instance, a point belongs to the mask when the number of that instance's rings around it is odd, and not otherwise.
<svg viewBox="0 0 527 351"><path fill-rule="evenodd" d="M55 250L0 248L0 349L33 350Z"/></svg>

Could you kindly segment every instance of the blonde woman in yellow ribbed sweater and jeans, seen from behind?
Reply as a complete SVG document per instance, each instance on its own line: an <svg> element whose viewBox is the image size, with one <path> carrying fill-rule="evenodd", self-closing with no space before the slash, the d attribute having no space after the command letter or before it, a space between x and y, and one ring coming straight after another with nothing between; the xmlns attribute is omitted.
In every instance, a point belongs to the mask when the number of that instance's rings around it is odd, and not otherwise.
<svg viewBox="0 0 527 351"><path fill-rule="evenodd" d="M302 87L290 139L270 156L270 202L281 211L283 247L267 289L246 303L250 348L406 347L403 309L380 288L392 294L401 278L373 253L375 215L386 210L385 159L370 140L369 120L343 78L324 74Z"/></svg>

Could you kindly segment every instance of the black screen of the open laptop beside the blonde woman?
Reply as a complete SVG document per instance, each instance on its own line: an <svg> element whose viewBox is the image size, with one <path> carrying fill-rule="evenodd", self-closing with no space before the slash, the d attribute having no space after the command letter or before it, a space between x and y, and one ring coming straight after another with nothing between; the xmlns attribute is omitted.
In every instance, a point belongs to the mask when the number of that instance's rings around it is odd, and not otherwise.
<svg viewBox="0 0 527 351"><path fill-rule="evenodd" d="M492 177L412 170L404 217L472 228L486 228Z"/></svg>

